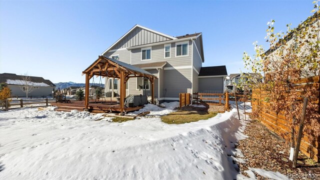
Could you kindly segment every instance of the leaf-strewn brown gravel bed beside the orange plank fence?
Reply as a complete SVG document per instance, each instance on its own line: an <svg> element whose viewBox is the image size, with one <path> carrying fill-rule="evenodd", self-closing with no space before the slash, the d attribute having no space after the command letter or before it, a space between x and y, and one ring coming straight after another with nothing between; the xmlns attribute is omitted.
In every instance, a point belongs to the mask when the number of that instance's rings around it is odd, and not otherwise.
<svg viewBox="0 0 320 180"><path fill-rule="evenodd" d="M251 120L244 130L244 134L248 138L240 140L237 148L239 148L246 160L246 163L238 164L240 172L248 167L262 168L265 170L279 171L280 173L290 177L290 174L316 174L317 178L299 178L292 179L320 179L320 164L312 161L303 154L299 154L297 168L292 168L292 162L288 160L289 146L281 138L272 134L263 124L257 120ZM255 173L255 175L257 175ZM267 179L257 175L257 179Z"/></svg>

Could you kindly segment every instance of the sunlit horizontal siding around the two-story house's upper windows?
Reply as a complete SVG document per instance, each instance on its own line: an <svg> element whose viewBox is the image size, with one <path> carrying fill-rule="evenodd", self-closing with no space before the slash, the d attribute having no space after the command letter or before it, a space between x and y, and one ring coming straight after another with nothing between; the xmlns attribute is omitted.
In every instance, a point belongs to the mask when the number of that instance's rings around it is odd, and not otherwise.
<svg viewBox="0 0 320 180"><path fill-rule="evenodd" d="M172 66L186 66L191 65L191 41L189 40L189 54L187 56L177 56L175 57L175 43L171 43L171 57L164 58L164 45L153 45L151 46L151 60L141 60L141 48L136 48L131 50L131 64L141 64L141 63L151 63L159 61L167 61L165 67Z"/></svg>

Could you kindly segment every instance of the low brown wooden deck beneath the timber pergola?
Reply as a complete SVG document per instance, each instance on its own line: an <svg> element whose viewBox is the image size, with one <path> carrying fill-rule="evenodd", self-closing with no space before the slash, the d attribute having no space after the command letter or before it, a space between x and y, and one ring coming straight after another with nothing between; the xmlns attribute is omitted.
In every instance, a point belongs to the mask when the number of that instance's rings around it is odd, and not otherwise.
<svg viewBox="0 0 320 180"><path fill-rule="evenodd" d="M83 111L85 109L84 100L81 101L71 101L69 103L66 102L51 102L51 105L57 106L56 111L70 111L72 109L76 109L79 111ZM124 112L135 111L143 106L136 107L124 107ZM95 113L109 113L109 112L119 112L121 111L120 104L112 101L89 101L88 104L89 112Z"/></svg>

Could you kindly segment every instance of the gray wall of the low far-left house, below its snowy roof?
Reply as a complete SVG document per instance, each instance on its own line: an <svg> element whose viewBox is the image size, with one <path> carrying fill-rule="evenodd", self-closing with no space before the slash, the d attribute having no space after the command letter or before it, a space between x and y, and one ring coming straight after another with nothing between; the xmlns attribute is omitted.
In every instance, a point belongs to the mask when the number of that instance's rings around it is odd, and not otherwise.
<svg viewBox="0 0 320 180"><path fill-rule="evenodd" d="M21 90L19 85L8 85L11 89L12 97L25 97L25 92ZM39 88L32 88L32 91L28 93L28 97L30 96L52 96L52 90L54 87L52 86L38 86Z"/></svg>

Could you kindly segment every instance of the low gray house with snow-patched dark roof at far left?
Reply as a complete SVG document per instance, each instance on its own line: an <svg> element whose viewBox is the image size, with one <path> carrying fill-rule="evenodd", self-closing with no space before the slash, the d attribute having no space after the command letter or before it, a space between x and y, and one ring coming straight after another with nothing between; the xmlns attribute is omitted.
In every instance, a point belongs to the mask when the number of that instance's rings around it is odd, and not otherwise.
<svg viewBox="0 0 320 180"><path fill-rule="evenodd" d="M5 82L11 89L12 97L25 96L25 90L23 87L24 81L22 75L16 75L14 73L0 73L0 83ZM43 77L30 76L30 81L27 82L32 88L28 92L28 96L52 96L55 85L50 80Z"/></svg>

